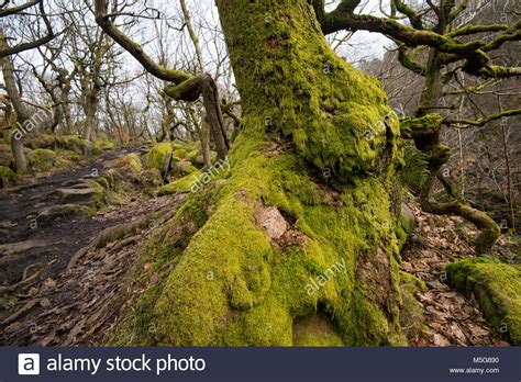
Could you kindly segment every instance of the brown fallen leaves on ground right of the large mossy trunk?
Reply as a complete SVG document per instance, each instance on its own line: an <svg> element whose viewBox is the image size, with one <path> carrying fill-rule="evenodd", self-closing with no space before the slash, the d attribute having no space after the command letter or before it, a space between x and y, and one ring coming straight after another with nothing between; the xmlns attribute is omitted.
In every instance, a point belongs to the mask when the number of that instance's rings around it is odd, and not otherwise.
<svg viewBox="0 0 521 382"><path fill-rule="evenodd" d="M428 290L415 295L423 307L425 325L411 339L411 346L509 346L490 328L477 301L443 282L446 265L475 256L472 245L477 231L459 217L426 214L414 205L412 211L417 227L402 251L401 269L424 281ZM498 248L506 247L508 244L500 238L495 255L505 256Z"/></svg>

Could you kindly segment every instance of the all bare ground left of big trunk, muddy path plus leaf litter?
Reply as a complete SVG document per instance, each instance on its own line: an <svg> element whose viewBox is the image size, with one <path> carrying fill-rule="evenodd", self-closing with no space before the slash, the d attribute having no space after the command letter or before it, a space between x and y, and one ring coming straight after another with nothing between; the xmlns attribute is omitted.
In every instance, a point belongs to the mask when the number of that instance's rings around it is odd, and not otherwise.
<svg viewBox="0 0 521 382"><path fill-rule="evenodd" d="M100 233L169 210L182 195L147 201L129 196L124 205L108 206L91 217L49 217L45 212L73 205L60 199L59 190L86 190L93 175L102 176L129 153L106 153L91 164L0 194L0 345L73 345L80 327L104 323L101 313L110 310L102 304L121 286L137 244L151 227L140 226L131 237L87 251L67 271L70 259ZM74 196L75 206L91 203L88 192Z"/></svg>

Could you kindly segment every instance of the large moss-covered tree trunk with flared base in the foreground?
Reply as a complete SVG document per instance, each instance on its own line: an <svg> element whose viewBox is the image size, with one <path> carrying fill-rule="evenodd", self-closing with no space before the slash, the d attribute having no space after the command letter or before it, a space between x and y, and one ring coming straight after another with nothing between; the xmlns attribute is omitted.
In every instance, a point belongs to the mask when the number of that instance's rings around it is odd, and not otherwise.
<svg viewBox="0 0 521 382"><path fill-rule="evenodd" d="M243 109L231 169L151 240L162 281L118 338L403 344L399 130L380 85L335 55L306 0L217 3Z"/></svg>

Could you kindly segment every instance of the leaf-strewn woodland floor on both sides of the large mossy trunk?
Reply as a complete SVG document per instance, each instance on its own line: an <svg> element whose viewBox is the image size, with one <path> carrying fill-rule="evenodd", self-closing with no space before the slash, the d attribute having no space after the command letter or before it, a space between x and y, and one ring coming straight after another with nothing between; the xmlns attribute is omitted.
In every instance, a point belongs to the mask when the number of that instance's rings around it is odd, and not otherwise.
<svg viewBox="0 0 521 382"><path fill-rule="evenodd" d="M138 222L160 210L173 213L184 196L129 198L125 204L109 206L96 216L54 220L34 229L27 216L57 204L55 190L85 180L95 167L101 175L124 154L106 154L93 164L0 194L0 248L19 247L11 254L0 251L0 292L11 292L13 299L1 301L0 345L102 345L103 334L119 319L124 302L118 301L118 291L154 221L118 240L91 247L69 270L67 265L107 228ZM414 205L412 210L417 228L402 254L402 270L422 279L429 289L417 294L425 325L410 345L508 346L488 326L475 301L443 283L445 265L474 255L470 243L476 233L463 229L459 218L425 214Z"/></svg>

